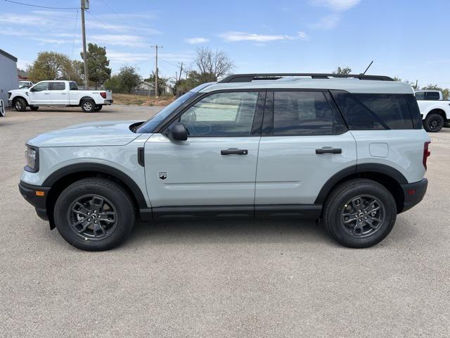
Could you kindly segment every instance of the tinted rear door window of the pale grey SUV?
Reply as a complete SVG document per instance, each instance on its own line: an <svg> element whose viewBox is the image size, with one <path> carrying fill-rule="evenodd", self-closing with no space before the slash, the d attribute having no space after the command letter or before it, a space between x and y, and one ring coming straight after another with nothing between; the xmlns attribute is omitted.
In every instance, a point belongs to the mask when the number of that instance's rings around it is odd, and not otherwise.
<svg viewBox="0 0 450 338"><path fill-rule="evenodd" d="M341 119L323 92L274 92L274 135L333 134Z"/></svg>

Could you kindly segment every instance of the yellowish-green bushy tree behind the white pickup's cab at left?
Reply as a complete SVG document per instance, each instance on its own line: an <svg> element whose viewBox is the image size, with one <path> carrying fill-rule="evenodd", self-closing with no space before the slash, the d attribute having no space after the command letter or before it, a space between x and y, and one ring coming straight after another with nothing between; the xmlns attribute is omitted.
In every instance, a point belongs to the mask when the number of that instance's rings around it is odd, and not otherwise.
<svg viewBox="0 0 450 338"><path fill-rule="evenodd" d="M67 80L73 73L72 61L68 56L54 51L41 51L37 58L27 67L30 80Z"/></svg>

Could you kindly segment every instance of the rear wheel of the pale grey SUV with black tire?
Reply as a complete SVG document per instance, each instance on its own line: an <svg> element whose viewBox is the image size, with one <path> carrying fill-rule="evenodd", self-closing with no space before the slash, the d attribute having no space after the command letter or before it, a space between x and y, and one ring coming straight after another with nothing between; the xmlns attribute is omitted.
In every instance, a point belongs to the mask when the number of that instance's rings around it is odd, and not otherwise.
<svg viewBox="0 0 450 338"><path fill-rule="evenodd" d="M372 206L365 204L371 200L374 201ZM378 244L391 232L397 218L397 206L383 185L356 178L333 189L322 216L326 230L337 242L349 248L367 248Z"/></svg>

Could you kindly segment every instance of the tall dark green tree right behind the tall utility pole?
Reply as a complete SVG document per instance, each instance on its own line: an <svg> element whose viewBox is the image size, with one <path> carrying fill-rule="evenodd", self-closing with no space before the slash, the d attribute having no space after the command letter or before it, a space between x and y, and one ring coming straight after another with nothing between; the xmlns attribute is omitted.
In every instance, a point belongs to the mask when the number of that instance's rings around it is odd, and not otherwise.
<svg viewBox="0 0 450 338"><path fill-rule="evenodd" d="M86 54L89 82L93 82L97 89L98 86L103 85L111 77L111 68L108 68L110 61L106 58L106 47L97 46L96 44L88 44ZM84 60L83 52L81 52L80 55Z"/></svg>

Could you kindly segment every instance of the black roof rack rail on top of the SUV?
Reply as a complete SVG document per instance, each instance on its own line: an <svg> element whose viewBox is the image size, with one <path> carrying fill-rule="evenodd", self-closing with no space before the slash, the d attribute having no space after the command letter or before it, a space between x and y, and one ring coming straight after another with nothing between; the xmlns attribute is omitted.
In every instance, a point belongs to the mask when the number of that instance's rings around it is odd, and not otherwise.
<svg viewBox="0 0 450 338"><path fill-rule="evenodd" d="M329 79L330 77L352 77L359 80L379 80L394 81L392 77L383 75L364 74L325 74L325 73L255 73L255 74L234 74L220 80L219 83L228 82L252 82L253 80L278 80L285 76L304 76L313 79Z"/></svg>

